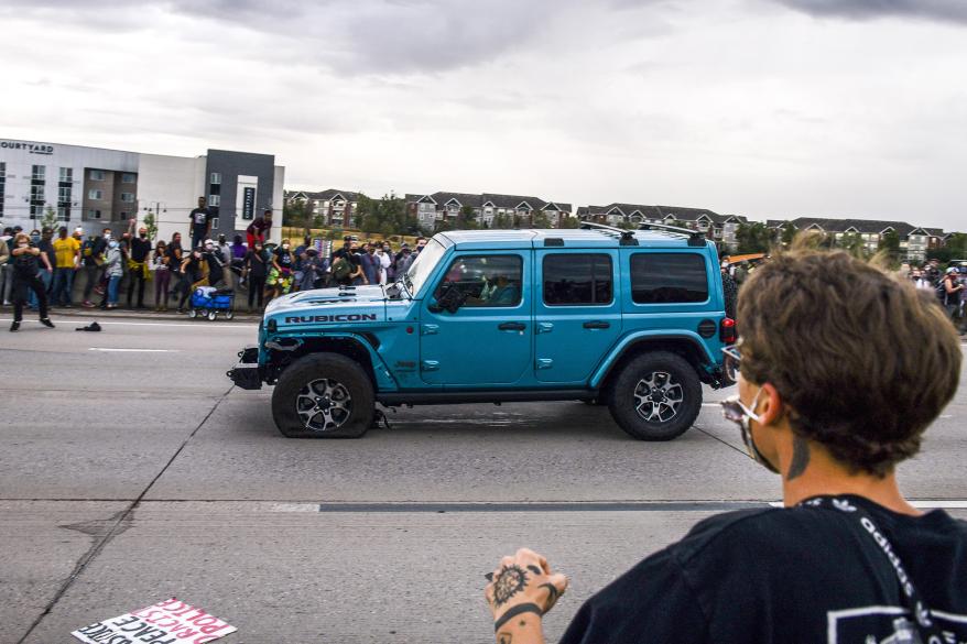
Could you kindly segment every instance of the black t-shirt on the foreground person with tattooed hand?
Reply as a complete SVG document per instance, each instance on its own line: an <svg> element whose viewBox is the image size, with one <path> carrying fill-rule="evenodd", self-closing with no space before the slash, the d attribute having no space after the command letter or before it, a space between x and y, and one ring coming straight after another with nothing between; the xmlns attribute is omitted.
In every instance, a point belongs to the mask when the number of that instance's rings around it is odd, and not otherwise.
<svg viewBox="0 0 967 644"><path fill-rule="evenodd" d="M967 642L967 522L865 499L950 642ZM903 616L898 575L858 516L798 506L700 522L589 599L562 644L887 642ZM900 637L889 642L908 642Z"/></svg>

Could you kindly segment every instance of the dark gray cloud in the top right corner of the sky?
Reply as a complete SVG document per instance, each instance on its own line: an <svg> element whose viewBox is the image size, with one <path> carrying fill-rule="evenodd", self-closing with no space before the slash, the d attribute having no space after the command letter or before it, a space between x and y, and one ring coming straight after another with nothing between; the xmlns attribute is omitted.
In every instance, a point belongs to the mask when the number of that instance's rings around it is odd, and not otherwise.
<svg viewBox="0 0 967 644"><path fill-rule="evenodd" d="M920 18L967 24L964 0L776 0L813 15L837 15L852 20L888 17Z"/></svg>

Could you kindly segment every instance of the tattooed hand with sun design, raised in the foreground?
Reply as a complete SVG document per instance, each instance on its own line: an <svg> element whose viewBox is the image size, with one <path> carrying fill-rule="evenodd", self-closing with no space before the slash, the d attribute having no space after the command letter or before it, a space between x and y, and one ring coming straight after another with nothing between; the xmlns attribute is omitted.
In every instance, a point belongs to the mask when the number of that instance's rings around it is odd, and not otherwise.
<svg viewBox="0 0 967 644"><path fill-rule="evenodd" d="M528 548L519 549L513 557L503 557L487 579L490 583L484 596L498 632L512 618L524 613L534 613L540 621L567 589L567 577L552 572L547 559Z"/></svg>

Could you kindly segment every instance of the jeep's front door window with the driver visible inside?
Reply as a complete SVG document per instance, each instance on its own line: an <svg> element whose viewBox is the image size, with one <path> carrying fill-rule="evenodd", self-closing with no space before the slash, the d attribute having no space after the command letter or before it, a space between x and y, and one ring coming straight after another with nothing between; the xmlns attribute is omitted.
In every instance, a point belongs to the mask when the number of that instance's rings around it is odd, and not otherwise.
<svg viewBox="0 0 967 644"><path fill-rule="evenodd" d="M447 268L434 296L455 286L467 297L465 307L517 306L522 274L520 255L463 255Z"/></svg>

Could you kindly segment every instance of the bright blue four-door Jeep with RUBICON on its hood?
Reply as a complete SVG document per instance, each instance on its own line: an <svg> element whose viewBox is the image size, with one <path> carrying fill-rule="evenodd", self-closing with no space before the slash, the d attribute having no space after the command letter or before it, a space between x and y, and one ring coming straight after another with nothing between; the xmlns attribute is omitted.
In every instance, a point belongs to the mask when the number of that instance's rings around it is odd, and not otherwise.
<svg viewBox="0 0 967 644"><path fill-rule="evenodd" d="M628 434L669 440L727 384L734 341L715 247L659 225L436 234L387 286L272 301L228 372L274 384L290 437L358 437L383 406L607 404Z"/></svg>

